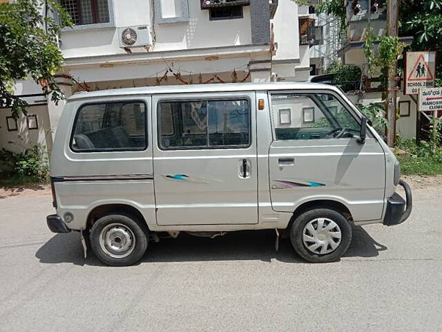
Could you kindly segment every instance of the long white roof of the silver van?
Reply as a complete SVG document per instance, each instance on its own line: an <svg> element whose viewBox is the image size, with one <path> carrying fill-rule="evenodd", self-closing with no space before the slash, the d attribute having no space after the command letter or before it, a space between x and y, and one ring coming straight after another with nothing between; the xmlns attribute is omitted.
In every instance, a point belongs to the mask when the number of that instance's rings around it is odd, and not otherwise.
<svg viewBox="0 0 442 332"><path fill-rule="evenodd" d="M271 83L223 83L223 84L183 84L163 86L141 86L138 88L109 89L91 92L79 92L68 100L84 98L115 97L128 95L153 95L160 93L198 93L225 91L273 91L273 90L308 90L329 89L337 91L335 86L307 82L271 82Z"/></svg>

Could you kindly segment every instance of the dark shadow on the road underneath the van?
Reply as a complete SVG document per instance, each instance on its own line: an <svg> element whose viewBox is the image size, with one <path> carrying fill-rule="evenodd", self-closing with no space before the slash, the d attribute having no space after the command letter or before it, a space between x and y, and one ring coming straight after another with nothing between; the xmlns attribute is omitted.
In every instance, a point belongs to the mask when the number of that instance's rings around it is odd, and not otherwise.
<svg viewBox="0 0 442 332"><path fill-rule="evenodd" d="M229 232L223 237L208 239L182 233L177 239L162 239L149 242L148 251L140 264L148 262L175 261L236 261L276 259L285 263L306 263L298 257L289 239L280 240L279 250L275 250L274 230ZM354 228L353 241L345 257L376 257L378 252L387 250L377 243L361 227ZM41 246L35 255L44 264L72 263L83 266L103 266L92 252L86 261L79 233L57 234Z"/></svg>

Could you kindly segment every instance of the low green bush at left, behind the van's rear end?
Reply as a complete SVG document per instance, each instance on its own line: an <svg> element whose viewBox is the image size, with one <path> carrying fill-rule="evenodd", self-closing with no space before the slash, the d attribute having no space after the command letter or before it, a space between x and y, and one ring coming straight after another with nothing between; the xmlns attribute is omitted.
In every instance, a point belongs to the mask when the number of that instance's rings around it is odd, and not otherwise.
<svg viewBox="0 0 442 332"><path fill-rule="evenodd" d="M3 172L9 171L13 183L48 181L49 158L44 146L34 145L21 153L1 149L0 160L5 164Z"/></svg>

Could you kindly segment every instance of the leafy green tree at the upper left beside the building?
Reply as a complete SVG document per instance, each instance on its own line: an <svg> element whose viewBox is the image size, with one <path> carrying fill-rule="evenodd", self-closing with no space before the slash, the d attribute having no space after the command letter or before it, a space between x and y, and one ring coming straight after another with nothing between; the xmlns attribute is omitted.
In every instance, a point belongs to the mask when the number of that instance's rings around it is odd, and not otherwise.
<svg viewBox="0 0 442 332"><path fill-rule="evenodd" d="M64 98L54 75L64 64L57 39L65 26L70 16L56 0L0 3L0 107L11 107L12 116L28 105L14 95L17 80L40 84L55 103Z"/></svg>

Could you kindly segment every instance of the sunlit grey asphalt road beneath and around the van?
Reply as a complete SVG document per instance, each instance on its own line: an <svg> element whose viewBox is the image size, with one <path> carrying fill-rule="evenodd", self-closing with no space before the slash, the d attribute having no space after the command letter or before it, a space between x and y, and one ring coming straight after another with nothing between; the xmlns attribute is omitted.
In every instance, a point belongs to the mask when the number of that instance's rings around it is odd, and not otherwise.
<svg viewBox="0 0 442 332"><path fill-rule="evenodd" d="M164 239L111 268L46 228L48 194L3 197L0 331L441 331L441 203L414 190L406 223L355 228L332 264L261 231Z"/></svg>

